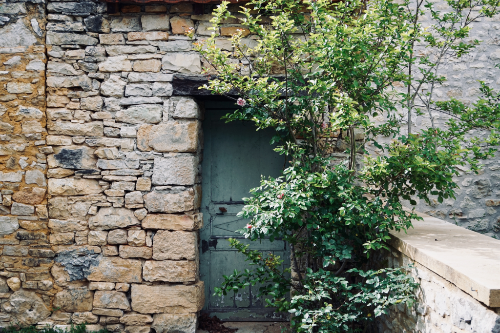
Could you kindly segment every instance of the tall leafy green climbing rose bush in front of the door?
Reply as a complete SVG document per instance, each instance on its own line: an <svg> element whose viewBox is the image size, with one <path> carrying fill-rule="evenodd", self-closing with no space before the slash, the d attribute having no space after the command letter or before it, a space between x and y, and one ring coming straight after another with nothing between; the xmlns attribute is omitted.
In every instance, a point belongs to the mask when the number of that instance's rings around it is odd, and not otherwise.
<svg viewBox="0 0 500 333"><path fill-rule="evenodd" d="M412 305L412 278L379 269L375 256L387 249L390 231L419 219L401 200L454 198L455 167L477 171L500 141L500 95L484 82L472 104L432 100L445 81L439 67L479 43L467 39L470 23L498 13L498 0L447 3L451 10L440 12L423 0L416 9L392 0L252 0L239 17L255 38L234 34L232 52L217 46L215 31L235 16L228 2L217 6L211 37L194 43L215 73L203 88L241 96L242 108L226 121L274 128L270 143L289 161L281 177L262 179L244 199L238 215L251 222L239 232L253 241L283 239L292 265L283 271L281 258L231 239L253 269L224 276L216 294L259 284L257 297L292 314L296 332L361 332L390 305ZM423 28L426 13L433 24ZM422 42L434 56L414 56ZM405 92L394 88L401 84ZM411 114L422 109L446 120L413 133ZM363 155L365 144L380 156Z"/></svg>

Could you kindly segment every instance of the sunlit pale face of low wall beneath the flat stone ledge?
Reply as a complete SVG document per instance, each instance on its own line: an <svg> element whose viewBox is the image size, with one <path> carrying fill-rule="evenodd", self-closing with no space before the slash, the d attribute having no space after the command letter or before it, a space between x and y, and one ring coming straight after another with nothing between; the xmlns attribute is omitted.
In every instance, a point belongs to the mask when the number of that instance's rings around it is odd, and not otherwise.
<svg viewBox="0 0 500 333"><path fill-rule="evenodd" d="M391 249L383 260L389 267L408 267L419 284L417 301L408 309L400 303L378 320L380 333L499 333L500 308L489 308L449 281Z"/></svg>

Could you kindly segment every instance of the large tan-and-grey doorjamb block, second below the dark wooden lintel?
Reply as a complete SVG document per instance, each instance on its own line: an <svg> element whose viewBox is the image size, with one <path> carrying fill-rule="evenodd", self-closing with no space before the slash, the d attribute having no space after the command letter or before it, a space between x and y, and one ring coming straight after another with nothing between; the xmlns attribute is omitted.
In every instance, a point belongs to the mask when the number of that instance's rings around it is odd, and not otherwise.
<svg viewBox="0 0 500 333"><path fill-rule="evenodd" d="M148 145L158 152L194 153L198 149L200 123L197 120L176 120L151 127Z"/></svg>

